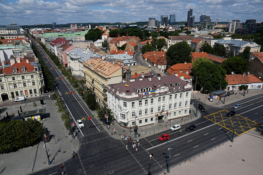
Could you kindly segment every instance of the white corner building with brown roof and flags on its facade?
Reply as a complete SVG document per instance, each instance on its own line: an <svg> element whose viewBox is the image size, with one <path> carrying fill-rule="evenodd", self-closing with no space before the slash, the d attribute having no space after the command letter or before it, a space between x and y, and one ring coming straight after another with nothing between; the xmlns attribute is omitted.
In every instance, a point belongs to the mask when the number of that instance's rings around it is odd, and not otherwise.
<svg viewBox="0 0 263 175"><path fill-rule="evenodd" d="M189 116L193 86L183 76L154 77L142 72L140 77L106 89L108 107L124 128L134 127L135 120L137 125L146 126Z"/></svg>

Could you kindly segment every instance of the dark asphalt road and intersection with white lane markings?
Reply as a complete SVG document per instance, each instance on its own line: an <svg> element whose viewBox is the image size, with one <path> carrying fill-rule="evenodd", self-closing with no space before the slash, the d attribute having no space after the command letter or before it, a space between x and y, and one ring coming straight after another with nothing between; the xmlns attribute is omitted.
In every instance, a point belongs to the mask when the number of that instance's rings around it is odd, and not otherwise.
<svg viewBox="0 0 263 175"><path fill-rule="evenodd" d="M38 49L40 53L43 52L40 47ZM43 60L47 62L48 68L54 67L52 62L48 62L51 61L49 58L43 58ZM55 78L62 76L56 69L50 69L50 71ZM65 92L74 90L65 79L55 79L55 84L75 123L77 119L83 116L92 115L78 95L65 94ZM193 101L197 103L197 101ZM191 103L193 101L191 100ZM187 132L184 130L187 125L182 125L181 135L177 135L177 131L172 132L167 129L156 135L140 138L138 152L132 149L131 144L126 149L125 141L110 137L96 119L86 120L85 127L80 129L81 132L77 136L80 142L78 156L64 162L66 174L161 173L167 168L166 163L169 154L167 141L171 141L171 145L174 147L171 149L170 166L175 166L216 145L229 141L233 135L236 117L239 121L237 120L236 123L235 137L263 122L263 95L248 97L238 103L241 103L242 107L236 109L237 115L232 117L226 117L225 114L229 110L233 110L232 106L235 104L229 104L223 108L211 107L202 103L206 108L206 111L202 112L202 117L187 124L196 125L195 130ZM160 142L157 138L162 134L169 134L170 139ZM154 159L149 159L149 153L154 154ZM32 174L52 174L57 171L58 167L52 167Z"/></svg>

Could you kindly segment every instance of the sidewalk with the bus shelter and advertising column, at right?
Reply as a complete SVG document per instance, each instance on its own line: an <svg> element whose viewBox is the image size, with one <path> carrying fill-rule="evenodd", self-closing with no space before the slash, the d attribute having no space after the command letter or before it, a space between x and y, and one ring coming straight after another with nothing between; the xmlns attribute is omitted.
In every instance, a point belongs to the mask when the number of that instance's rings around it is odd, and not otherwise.
<svg viewBox="0 0 263 175"><path fill-rule="evenodd" d="M239 92L241 92L241 91L237 90L237 91L235 91L235 93L237 93L237 94L234 93L230 96L226 96L225 104L223 104L224 98L222 98L222 101L220 100L220 102L219 102L219 99L213 99L213 101L209 101L210 93L204 94L204 93L200 93L199 91L195 92L195 96L194 96L194 91L193 91L193 93L191 94L191 98L194 97L195 99L197 99L199 96L199 98L201 99L201 100L199 100L199 102L201 101L207 105L215 106L215 107L225 107L225 106L229 105L230 103L235 103L235 102L238 103L239 100L244 100L244 99L251 97L251 96L255 96L255 98L257 98L256 97L257 95L263 94L262 89L249 90L248 94L246 92L245 96L243 96L241 94L239 95ZM207 97L207 99L206 99L206 97Z"/></svg>

